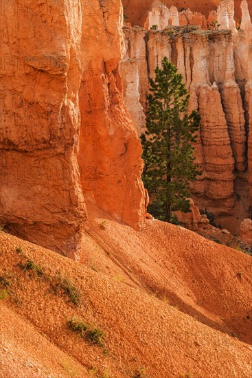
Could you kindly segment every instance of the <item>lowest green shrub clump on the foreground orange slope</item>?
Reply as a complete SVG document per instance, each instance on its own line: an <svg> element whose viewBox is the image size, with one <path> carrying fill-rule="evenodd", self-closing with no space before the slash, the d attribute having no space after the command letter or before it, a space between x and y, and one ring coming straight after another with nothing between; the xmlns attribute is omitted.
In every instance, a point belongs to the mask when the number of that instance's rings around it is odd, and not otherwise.
<svg viewBox="0 0 252 378"><path fill-rule="evenodd" d="M84 340L98 346L104 346L105 335L102 330L73 318L67 322L69 328L77 332Z"/></svg>

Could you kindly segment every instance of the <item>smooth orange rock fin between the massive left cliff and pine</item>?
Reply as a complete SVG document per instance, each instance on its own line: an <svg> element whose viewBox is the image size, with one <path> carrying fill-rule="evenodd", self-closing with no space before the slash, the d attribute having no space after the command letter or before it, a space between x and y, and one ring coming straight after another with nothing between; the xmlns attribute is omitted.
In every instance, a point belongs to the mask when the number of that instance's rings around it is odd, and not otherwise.
<svg viewBox="0 0 252 378"><path fill-rule="evenodd" d="M82 190L115 219L137 228L145 214L143 162L118 71L125 52L123 9L118 0L96 0L93 7L82 24L78 155Z"/></svg>

